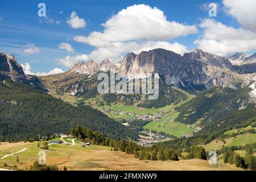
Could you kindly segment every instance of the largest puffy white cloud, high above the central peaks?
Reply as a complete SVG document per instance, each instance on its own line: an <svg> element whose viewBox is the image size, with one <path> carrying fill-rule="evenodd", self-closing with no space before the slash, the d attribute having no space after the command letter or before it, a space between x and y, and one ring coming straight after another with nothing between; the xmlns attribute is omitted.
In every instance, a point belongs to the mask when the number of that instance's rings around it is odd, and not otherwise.
<svg viewBox="0 0 256 182"><path fill-rule="evenodd" d="M163 11L147 5L127 7L102 26L105 27L104 32L91 32L87 38L82 39L82 42L92 46L105 46L110 42L127 40L163 41L197 32L196 26L170 22ZM75 38L77 39L79 37Z"/></svg>

